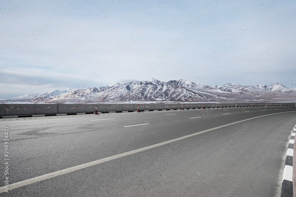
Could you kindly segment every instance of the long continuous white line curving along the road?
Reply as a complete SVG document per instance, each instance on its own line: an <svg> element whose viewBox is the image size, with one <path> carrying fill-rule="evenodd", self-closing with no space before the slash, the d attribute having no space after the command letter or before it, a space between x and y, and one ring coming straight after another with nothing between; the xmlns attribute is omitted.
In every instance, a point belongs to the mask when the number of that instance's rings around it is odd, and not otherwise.
<svg viewBox="0 0 296 197"><path fill-rule="evenodd" d="M124 156L131 155L131 154L134 154L134 153L142 152L142 151L152 149L152 148L155 148L155 147L158 147L158 146L169 144L169 143L172 143L174 141L178 141L178 140L181 140L181 139L186 139L186 138L189 138L189 137L192 137L192 136L199 135L201 133L205 133L205 132L208 132L208 131L213 131L213 130L218 129L218 128L223 128L223 127L226 127L226 126L229 126L229 125L241 123L241 122L244 122L244 121L249 121L249 120L252 120L252 119L255 119L255 118L261 118L261 117L265 117L265 116L269 116L269 115L275 115L275 114L281 114L281 113L290 113L290 112L296 112L296 111L280 112L280 113L274 113L274 114L268 114L268 115L261 115L261 116L257 116L257 117L254 117L254 118L248 118L248 119L245 119L245 120L242 120L242 121L237 121L237 122L234 122L234 123L229 123L229 124L226 124L226 125L218 126L218 127L211 128L211 129L207 129L205 131L192 133L190 135L183 136L183 137L176 138L176 139L172 139L172 140L169 140L169 141L164 141L164 142L161 142L159 144L154 144L154 145L151 145L151 146L147 146L147 147L136 149L136 150L133 150L133 151L121 153L121 154L114 155L114 156L111 156L111 157L106 157L104 159L99 159L99 160L96 160L96 161L93 161L93 162L89 162L89 163L81 164L81 165L78 165L78 166L70 167L70 168L67 168L67 169L64 169L64 170L59 170L59 171L56 171L56 172L52 172L52 173L49 173L49 174L46 174L46 175L41 175L41 176L38 176L38 177L30 178L30 179L23 180L23 181L20 181L20 182L17 182L17 183L12 183L12 184L9 184L9 190L19 188L19 187L22 187L22 186L25 186L25 185L29 185L29 184L32 184L32 183L36 183L38 181L53 178L53 177L63 175L63 174L69 173L69 172L73 172L73 171L76 171L76 170L81 170L83 168L94 166L94 165L97 165L97 164L100 164L100 163L103 163L103 162L107 162L107 161L110 161L110 160L113 160L113 159L118 159L120 157L124 157ZM284 172L285 172L285 170L284 170ZM291 171L291 176L292 176L292 171ZM5 189L6 188L4 186L1 187L0 188L0 193L3 193Z"/></svg>

